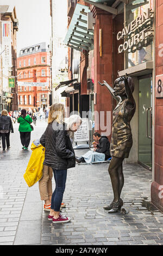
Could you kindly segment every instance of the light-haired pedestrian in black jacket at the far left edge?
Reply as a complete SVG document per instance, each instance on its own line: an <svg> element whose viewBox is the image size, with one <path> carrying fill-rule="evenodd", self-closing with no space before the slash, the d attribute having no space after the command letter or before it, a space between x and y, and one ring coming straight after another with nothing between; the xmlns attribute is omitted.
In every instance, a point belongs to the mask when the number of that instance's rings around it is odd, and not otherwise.
<svg viewBox="0 0 163 256"><path fill-rule="evenodd" d="M6 147L5 142L7 144L7 149L10 148L10 131L11 133L14 133L12 120L7 110L3 109L0 117L0 139L2 137L3 150L5 150L5 147Z"/></svg>

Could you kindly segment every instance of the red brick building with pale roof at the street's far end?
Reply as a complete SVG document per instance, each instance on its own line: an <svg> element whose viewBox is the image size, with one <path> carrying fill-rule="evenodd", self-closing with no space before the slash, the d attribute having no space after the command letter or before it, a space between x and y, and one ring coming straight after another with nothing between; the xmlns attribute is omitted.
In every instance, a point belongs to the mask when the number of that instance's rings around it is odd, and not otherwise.
<svg viewBox="0 0 163 256"><path fill-rule="evenodd" d="M17 58L17 81L18 108L51 105L51 62L45 42L21 49Z"/></svg>

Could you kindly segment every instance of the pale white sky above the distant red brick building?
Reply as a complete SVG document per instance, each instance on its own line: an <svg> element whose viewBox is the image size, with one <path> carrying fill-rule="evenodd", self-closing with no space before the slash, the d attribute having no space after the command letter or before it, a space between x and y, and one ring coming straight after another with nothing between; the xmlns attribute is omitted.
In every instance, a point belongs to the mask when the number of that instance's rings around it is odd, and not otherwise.
<svg viewBox="0 0 163 256"><path fill-rule="evenodd" d="M39 42L50 43L51 16L49 0L0 0L0 5L16 7L18 19L17 53Z"/></svg>

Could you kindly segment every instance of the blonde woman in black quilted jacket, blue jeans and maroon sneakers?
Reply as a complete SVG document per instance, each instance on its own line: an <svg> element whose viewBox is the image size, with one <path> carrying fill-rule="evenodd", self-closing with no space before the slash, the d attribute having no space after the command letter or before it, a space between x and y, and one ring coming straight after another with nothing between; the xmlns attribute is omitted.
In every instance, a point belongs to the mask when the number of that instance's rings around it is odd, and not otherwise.
<svg viewBox="0 0 163 256"><path fill-rule="evenodd" d="M67 169L75 167L75 155L66 131L65 108L62 104L51 106L48 126L40 138L45 147L45 161L43 164L53 169L55 190L52 194L51 211L48 220L53 223L65 223L71 220L60 214L60 207L66 186Z"/></svg>

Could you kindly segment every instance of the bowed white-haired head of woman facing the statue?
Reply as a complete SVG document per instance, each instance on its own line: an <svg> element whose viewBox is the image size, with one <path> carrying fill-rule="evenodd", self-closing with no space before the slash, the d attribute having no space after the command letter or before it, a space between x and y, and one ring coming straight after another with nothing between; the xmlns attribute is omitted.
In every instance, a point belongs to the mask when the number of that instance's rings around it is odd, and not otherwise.
<svg viewBox="0 0 163 256"><path fill-rule="evenodd" d="M70 117L65 118L65 123L67 124L67 133L70 136L71 143L73 143L74 132L76 132L82 124L82 118L80 118L79 115L70 115Z"/></svg>

